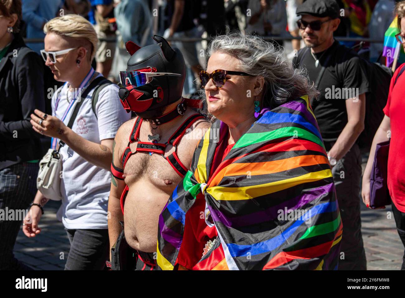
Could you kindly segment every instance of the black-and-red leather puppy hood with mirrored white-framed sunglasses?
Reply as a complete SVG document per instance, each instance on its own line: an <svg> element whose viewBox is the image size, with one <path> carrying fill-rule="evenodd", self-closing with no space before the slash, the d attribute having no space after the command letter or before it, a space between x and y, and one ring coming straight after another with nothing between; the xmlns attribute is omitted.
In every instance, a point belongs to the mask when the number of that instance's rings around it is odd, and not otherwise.
<svg viewBox="0 0 405 298"><path fill-rule="evenodd" d="M159 114L164 107L178 101L185 80L181 51L160 36L153 39L158 44L143 48L128 41L126 49L131 58L127 71L120 72L124 88L119 90L119 98L124 109L144 119L162 116Z"/></svg>

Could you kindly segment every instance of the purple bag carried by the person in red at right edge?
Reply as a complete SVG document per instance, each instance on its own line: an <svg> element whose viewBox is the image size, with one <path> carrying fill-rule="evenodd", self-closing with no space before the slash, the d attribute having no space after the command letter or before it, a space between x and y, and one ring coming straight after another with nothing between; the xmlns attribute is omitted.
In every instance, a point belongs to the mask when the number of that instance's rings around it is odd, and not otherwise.
<svg viewBox="0 0 405 298"><path fill-rule="evenodd" d="M370 175L370 207L372 209L391 204L387 186L388 151L390 141L377 144Z"/></svg>

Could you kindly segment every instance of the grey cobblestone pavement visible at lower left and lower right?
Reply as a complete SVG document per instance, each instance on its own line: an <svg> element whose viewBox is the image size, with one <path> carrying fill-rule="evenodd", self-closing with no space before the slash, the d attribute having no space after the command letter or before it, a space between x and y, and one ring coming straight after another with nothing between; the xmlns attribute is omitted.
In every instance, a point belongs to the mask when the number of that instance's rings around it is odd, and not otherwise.
<svg viewBox="0 0 405 298"><path fill-rule="evenodd" d="M363 168L367 162L363 159ZM361 202L361 221L368 270L399 270L404 247L396 232L391 206L371 210ZM35 238L27 238L22 230L17 236L14 253L17 259L36 270L63 270L69 252L69 240L61 222L56 219L60 202L45 206Z"/></svg>

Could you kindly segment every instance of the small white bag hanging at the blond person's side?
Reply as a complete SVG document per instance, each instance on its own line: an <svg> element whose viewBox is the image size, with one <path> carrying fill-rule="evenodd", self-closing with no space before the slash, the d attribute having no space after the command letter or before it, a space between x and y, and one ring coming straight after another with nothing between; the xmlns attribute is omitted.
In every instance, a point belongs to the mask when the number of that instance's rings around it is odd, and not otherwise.
<svg viewBox="0 0 405 298"><path fill-rule="evenodd" d="M60 147L59 147L60 148ZM36 188L46 198L60 201L60 180L62 178L62 155L52 148L39 162L38 177L36 178Z"/></svg>

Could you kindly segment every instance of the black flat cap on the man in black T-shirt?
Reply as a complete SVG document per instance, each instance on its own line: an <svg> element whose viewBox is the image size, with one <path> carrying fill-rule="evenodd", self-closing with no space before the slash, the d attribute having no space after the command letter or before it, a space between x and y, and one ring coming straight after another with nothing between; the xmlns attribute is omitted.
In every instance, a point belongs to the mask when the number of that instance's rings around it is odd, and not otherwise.
<svg viewBox="0 0 405 298"><path fill-rule="evenodd" d="M335 0L307 0L297 7L296 14L337 19L339 11L339 4Z"/></svg>

